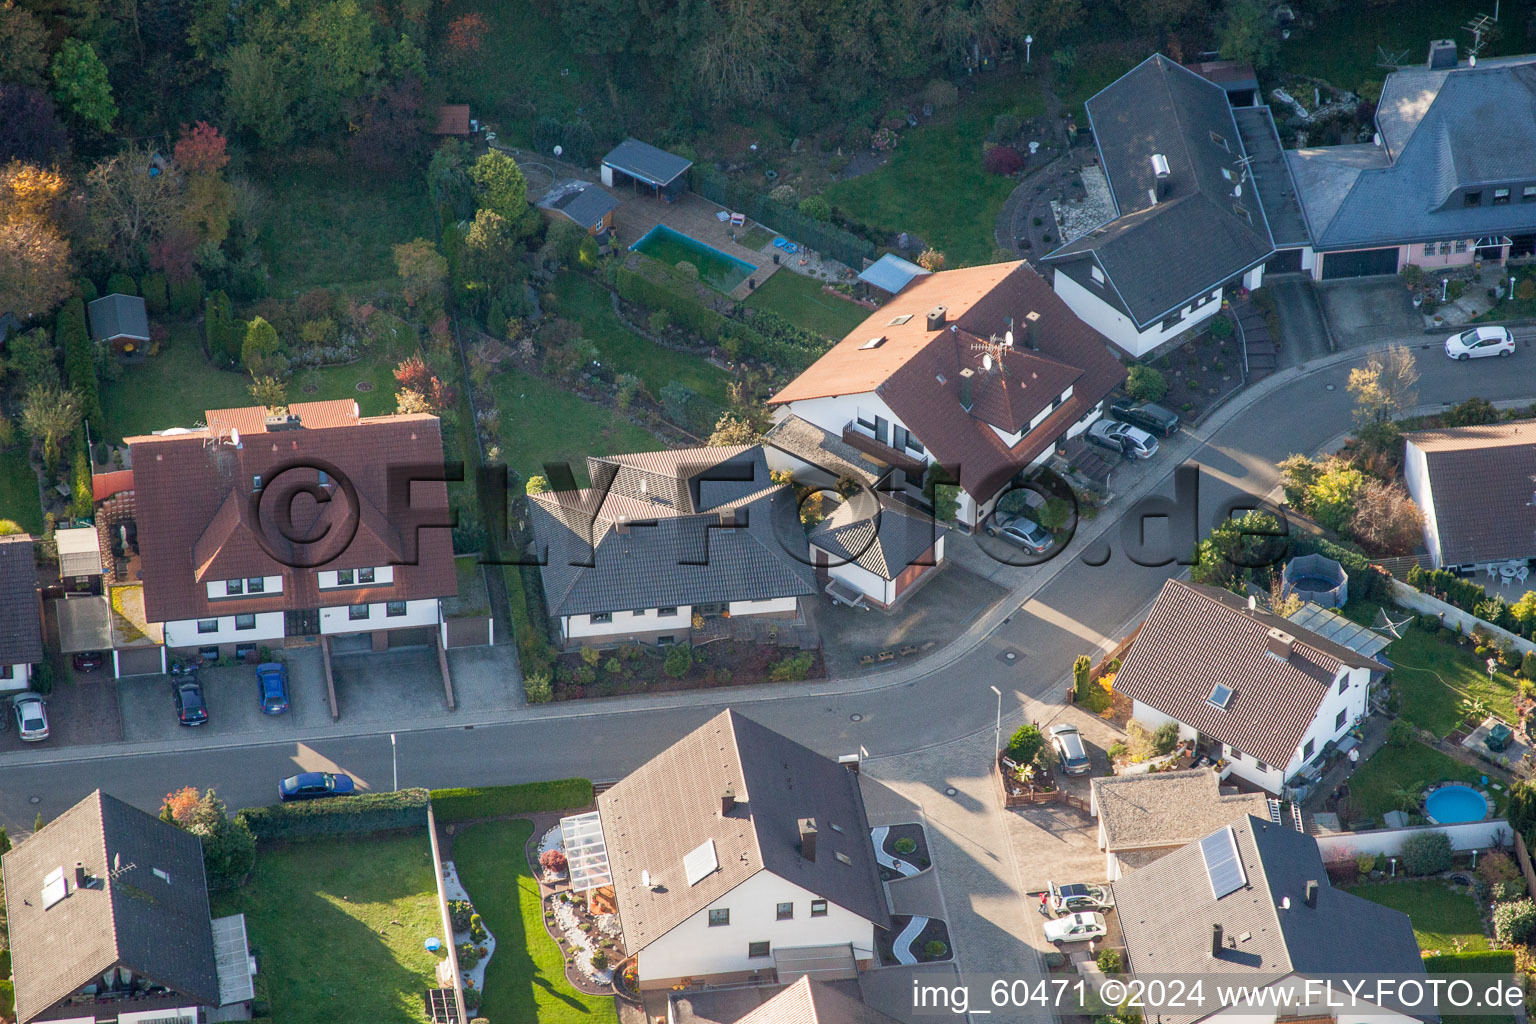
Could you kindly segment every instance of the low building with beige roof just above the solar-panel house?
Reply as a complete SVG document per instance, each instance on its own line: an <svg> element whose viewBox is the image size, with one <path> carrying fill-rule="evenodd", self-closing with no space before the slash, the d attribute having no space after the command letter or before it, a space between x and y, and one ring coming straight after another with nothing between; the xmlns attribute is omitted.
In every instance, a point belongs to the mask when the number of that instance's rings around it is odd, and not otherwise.
<svg viewBox="0 0 1536 1024"><path fill-rule="evenodd" d="M1244 815L1270 818L1263 794L1223 786L1209 768L1094 778L1089 811L1098 818L1104 877L1117 881ZM1278 815L1278 808L1276 808Z"/></svg>

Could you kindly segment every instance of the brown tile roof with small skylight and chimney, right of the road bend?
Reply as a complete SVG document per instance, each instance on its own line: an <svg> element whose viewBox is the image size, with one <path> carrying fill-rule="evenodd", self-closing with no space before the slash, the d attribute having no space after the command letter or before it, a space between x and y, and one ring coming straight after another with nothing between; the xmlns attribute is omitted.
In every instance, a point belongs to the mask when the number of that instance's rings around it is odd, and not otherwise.
<svg viewBox="0 0 1536 1024"><path fill-rule="evenodd" d="M1270 629L1295 637L1289 659L1267 654ZM1267 611L1249 611L1230 591L1169 580L1115 674L1115 692L1284 768L1342 665L1385 669ZM1226 708L1207 700L1217 683L1233 691Z"/></svg>

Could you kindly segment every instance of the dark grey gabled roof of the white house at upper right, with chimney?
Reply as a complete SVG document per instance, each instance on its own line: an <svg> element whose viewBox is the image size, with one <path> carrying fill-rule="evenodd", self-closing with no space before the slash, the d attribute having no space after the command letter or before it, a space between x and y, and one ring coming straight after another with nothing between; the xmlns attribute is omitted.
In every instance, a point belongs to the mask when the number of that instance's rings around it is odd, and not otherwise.
<svg viewBox="0 0 1536 1024"><path fill-rule="evenodd" d="M1221 86L1154 54L1094 95L1087 117L1117 215L1046 259L1097 258L1138 327L1275 252L1253 198L1263 183L1233 197L1246 150ZM1161 184L1154 154L1169 163Z"/></svg>

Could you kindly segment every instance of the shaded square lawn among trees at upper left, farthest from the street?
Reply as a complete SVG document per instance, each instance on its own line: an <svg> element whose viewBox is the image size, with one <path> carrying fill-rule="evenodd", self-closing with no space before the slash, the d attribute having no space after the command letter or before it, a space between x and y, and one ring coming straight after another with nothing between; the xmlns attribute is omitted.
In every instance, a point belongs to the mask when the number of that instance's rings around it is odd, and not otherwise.
<svg viewBox="0 0 1536 1024"><path fill-rule="evenodd" d="M393 246L435 238L419 173L386 181L346 163L295 161L258 181L267 192L261 246L276 298L318 286L395 287Z"/></svg>

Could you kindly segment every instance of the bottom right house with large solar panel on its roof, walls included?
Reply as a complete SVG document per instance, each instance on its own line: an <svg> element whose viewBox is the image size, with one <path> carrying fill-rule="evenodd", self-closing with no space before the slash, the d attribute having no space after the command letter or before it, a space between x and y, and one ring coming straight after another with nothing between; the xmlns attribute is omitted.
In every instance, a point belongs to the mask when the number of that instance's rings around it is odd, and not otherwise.
<svg viewBox="0 0 1536 1024"><path fill-rule="evenodd" d="M1112 889L1127 973L1207 979L1209 1001L1186 1012L1161 1009L1164 1024L1210 1016L1273 1021L1276 1006L1286 1007L1284 1019L1319 1024L1415 1019L1390 1004L1341 1012L1303 987L1318 975L1424 975L1409 917L1335 889L1316 840L1304 832L1244 815L1130 872ZM1279 992L1255 996L1233 1013L1229 1003L1210 998L1212 981ZM1375 986L1367 992L1376 992ZM1260 1004L1261 998L1269 1001Z"/></svg>

